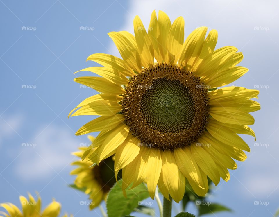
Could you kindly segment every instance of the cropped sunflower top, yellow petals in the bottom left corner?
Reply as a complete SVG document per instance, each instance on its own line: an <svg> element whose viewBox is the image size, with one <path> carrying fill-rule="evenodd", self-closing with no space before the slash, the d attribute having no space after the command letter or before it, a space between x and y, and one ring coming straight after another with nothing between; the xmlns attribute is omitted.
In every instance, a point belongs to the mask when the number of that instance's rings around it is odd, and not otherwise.
<svg viewBox="0 0 279 217"><path fill-rule="evenodd" d="M22 205L22 211L12 203L1 203L0 206L5 208L8 212L0 212L6 217L57 217L60 214L61 204L53 200L45 209L41 212L41 198L38 197L36 201L31 194L28 194L29 200L24 196L19 196L20 203ZM65 214L63 217L67 217ZM71 215L72 216L72 215ZM3 217L3 216L2 216Z"/></svg>

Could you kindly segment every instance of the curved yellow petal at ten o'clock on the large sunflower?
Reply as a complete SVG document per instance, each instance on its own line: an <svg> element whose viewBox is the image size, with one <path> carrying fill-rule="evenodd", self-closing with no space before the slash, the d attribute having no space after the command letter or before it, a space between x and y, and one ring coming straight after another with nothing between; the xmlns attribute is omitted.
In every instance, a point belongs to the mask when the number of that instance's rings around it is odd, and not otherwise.
<svg viewBox="0 0 279 217"><path fill-rule="evenodd" d="M118 70L125 76L133 76L135 73L133 70L128 67L128 65L118 57L105 53L94 53L90 55L86 61L91 60L101 64L104 67L112 67L113 69Z"/></svg>

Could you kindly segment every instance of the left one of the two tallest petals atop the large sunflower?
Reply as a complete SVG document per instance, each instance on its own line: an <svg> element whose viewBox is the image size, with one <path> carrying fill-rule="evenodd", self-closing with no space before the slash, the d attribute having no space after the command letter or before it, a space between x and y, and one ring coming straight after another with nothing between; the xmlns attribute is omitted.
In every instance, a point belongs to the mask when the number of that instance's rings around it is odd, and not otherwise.
<svg viewBox="0 0 279 217"><path fill-rule="evenodd" d="M158 20L155 10L153 10L151 14L151 19L148 27L148 36L152 42L153 49L154 49L154 56L158 63L162 62L162 57L160 54L160 50L158 47L158 41L157 41L157 31L159 31L158 28Z"/></svg>

